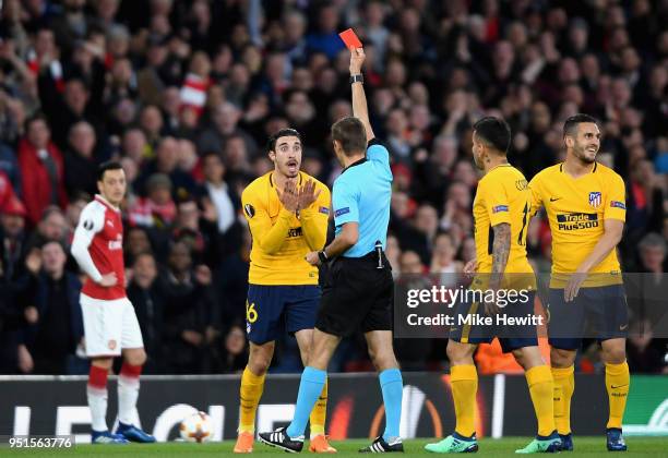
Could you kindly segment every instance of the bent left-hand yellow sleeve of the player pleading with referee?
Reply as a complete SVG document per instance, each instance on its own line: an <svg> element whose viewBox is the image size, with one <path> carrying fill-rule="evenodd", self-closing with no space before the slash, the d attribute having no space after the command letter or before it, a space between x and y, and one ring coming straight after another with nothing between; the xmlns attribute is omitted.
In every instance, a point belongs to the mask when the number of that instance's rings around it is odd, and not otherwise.
<svg viewBox="0 0 668 458"><path fill-rule="evenodd" d="M285 234L290 228L293 213L281 207L276 222L272 225L272 218L266 210L264 202L253 189L247 188L241 194L243 216L253 238L253 243L265 253L273 254L281 250L285 242Z"/></svg>

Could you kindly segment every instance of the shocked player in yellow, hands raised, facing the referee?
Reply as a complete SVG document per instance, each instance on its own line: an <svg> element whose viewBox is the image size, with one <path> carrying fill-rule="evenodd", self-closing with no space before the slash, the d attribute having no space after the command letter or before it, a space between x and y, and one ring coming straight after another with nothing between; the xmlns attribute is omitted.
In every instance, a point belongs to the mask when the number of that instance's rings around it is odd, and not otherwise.
<svg viewBox="0 0 668 458"><path fill-rule="evenodd" d="M274 170L250 183L241 196L253 242L246 303L250 354L241 376L235 453L253 449L255 411L282 326L296 337L301 360L307 361L320 287L318 267L305 257L324 246L330 215L327 186L299 171L299 132L278 131L270 138L267 149ZM336 451L324 435L326 398L325 384L311 412L311 451Z"/></svg>

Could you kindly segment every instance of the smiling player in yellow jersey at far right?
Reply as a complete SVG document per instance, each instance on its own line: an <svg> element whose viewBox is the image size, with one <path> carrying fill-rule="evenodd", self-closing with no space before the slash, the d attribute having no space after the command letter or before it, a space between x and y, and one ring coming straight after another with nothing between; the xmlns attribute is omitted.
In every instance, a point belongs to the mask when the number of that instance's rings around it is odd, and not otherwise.
<svg viewBox="0 0 668 458"><path fill-rule="evenodd" d="M628 310L616 246L625 218L624 182L596 162L600 130L587 114L563 125L565 160L540 171L529 183L532 213L547 210L552 232L552 274L549 291L554 415L563 448L573 449L571 397L575 354L585 320L596 328L606 363L610 401L607 445L625 450L621 421L629 394L625 336Z"/></svg>

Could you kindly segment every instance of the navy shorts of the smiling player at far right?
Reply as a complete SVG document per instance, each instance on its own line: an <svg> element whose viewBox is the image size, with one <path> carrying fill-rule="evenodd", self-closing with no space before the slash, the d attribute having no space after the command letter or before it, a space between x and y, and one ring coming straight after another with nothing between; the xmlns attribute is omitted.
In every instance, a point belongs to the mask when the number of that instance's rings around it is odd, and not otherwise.
<svg viewBox="0 0 668 458"><path fill-rule="evenodd" d="M629 332L629 308L622 285L580 288L572 302L563 300L563 288L550 288L548 336L554 348L577 350L583 337L601 340L624 338Z"/></svg>

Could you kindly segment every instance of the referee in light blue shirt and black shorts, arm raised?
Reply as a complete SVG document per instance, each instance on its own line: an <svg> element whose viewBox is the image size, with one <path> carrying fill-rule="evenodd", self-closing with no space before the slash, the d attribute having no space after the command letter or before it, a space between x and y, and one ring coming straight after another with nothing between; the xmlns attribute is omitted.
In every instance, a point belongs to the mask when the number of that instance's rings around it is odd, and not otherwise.
<svg viewBox="0 0 668 458"><path fill-rule="evenodd" d="M399 437L403 381L392 348L394 284L383 249L390 221L392 172L390 155L373 135L362 86L363 49L350 50L354 118L332 126L336 158L344 167L334 182L332 205L336 238L307 261L330 260L308 365L301 374L293 422L287 427L261 433L265 444L300 451L309 414L326 379L326 369L343 337L365 333L369 357L379 371L385 406L385 431L360 451L404 451Z"/></svg>

